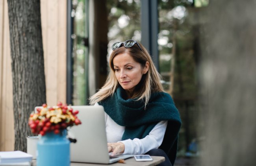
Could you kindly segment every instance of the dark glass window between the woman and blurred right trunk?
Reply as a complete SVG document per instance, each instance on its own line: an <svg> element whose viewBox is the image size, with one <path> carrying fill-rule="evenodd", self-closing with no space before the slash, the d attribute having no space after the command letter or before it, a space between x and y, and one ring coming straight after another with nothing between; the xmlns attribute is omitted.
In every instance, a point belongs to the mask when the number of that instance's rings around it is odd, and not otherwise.
<svg viewBox="0 0 256 166"><path fill-rule="evenodd" d="M191 149L197 135L198 76L200 60L200 12L208 0L158 0L158 50L160 74L165 90L173 96L182 118L179 155L196 155ZM195 6L197 5L197 6ZM196 143L196 142L194 142ZM195 146L194 146L195 147Z"/></svg>

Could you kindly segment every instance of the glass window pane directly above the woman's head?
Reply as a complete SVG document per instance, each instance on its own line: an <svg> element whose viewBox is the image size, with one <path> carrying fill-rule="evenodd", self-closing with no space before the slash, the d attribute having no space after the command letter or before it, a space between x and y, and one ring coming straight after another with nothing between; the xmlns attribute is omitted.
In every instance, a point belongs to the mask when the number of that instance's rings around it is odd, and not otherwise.
<svg viewBox="0 0 256 166"><path fill-rule="evenodd" d="M140 0L107 0L108 54L115 42L141 41Z"/></svg>

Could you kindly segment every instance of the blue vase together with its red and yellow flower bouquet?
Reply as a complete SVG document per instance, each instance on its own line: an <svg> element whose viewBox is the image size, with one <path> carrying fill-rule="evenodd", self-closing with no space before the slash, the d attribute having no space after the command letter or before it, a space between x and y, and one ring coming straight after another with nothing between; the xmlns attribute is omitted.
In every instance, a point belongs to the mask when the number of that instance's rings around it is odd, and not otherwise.
<svg viewBox="0 0 256 166"><path fill-rule="evenodd" d="M82 124L78 110L59 102L57 106L43 104L30 114L28 124L33 134L39 134L37 166L69 166L70 140L67 127Z"/></svg>

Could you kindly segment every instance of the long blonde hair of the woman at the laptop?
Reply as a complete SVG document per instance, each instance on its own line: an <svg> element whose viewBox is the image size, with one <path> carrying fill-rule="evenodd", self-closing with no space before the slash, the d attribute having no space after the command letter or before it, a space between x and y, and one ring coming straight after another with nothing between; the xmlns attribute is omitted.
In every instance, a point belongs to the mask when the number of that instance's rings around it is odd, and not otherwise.
<svg viewBox="0 0 256 166"><path fill-rule="evenodd" d="M149 68L148 72L143 75L141 78L141 81L139 82L138 85L136 85L137 88L134 90L134 94L131 97L132 99L137 99L137 100L143 100L145 102L145 107L149 101L150 94L152 92L164 92L163 86L161 85L161 76L156 70L156 67L154 66L154 63L148 54L148 51L141 45L141 43L137 42L142 51L139 49L139 47L136 45L126 48L126 47L119 47L118 49L114 50L111 52L110 58L109 58L109 67L110 71L108 74L108 78L106 79L105 84L103 85L102 88L96 94L91 96L89 98L89 103L90 105L94 105L97 102L100 102L104 99L106 99L109 96L112 96L119 86L119 82L115 76L115 70L113 67L113 59L115 56L118 54L122 53L128 53L134 61L138 62L141 64L142 67L145 67L146 62L148 61L149 63ZM144 86L143 86L144 85Z"/></svg>

